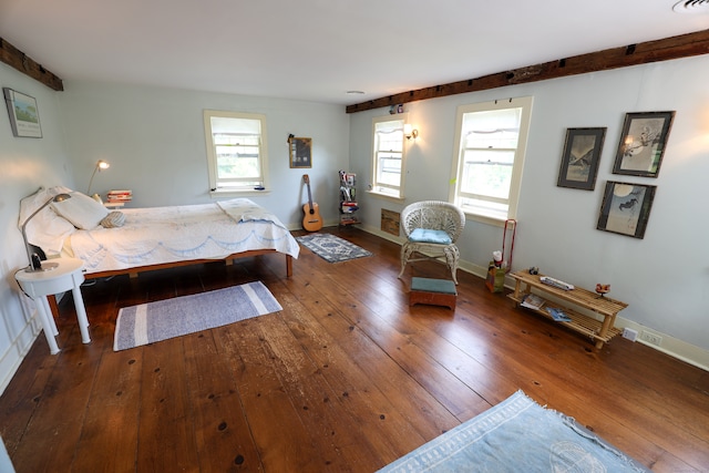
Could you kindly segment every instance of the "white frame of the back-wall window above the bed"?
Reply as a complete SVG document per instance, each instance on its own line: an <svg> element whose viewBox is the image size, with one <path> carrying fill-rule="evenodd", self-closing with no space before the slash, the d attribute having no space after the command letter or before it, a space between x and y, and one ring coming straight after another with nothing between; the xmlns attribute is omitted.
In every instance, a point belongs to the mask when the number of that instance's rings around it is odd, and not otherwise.
<svg viewBox="0 0 709 473"><path fill-rule="evenodd" d="M217 173L217 155L216 146L214 143L214 130L213 119L238 119L250 120L258 122L258 167L259 176L256 178L249 178L250 184L239 184L240 178L219 179ZM256 123L255 123L256 125ZM227 112L219 110L205 110L204 111L204 131L205 141L207 145L207 165L209 174L209 189L213 196L229 196L229 195L254 195L264 194L269 191L268 179L268 147L266 136L266 115L259 113L242 113L242 112ZM263 187L257 189L256 187Z"/></svg>

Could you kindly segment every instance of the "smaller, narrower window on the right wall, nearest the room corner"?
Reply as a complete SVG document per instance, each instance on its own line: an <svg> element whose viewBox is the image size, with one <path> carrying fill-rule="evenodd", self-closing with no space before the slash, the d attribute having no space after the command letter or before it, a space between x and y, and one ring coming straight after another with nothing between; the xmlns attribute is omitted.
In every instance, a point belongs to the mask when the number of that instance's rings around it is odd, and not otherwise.
<svg viewBox="0 0 709 473"><path fill-rule="evenodd" d="M403 198L403 125L408 114L398 114L372 121L373 126L373 176L372 192L394 198Z"/></svg>

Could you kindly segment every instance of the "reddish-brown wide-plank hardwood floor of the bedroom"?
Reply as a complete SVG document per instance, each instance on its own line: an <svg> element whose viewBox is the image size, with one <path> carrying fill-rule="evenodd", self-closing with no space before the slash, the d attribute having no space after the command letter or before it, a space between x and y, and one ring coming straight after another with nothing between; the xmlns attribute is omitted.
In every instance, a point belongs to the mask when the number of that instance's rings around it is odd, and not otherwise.
<svg viewBox="0 0 709 473"><path fill-rule="evenodd" d="M127 276L71 298L58 356L40 336L0 398L18 472L373 472L524 390L658 472L709 471L709 373L615 338L597 351L459 271L455 311L408 306L399 246L328 228L373 257L302 248ZM119 308L261 280L282 311L113 351ZM521 465L521 471L524 467Z"/></svg>

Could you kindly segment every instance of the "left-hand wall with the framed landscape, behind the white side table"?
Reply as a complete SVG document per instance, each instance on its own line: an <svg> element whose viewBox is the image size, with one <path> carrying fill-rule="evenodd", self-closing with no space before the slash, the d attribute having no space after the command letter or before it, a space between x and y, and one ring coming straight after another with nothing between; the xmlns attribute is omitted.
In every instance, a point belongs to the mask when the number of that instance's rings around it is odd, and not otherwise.
<svg viewBox="0 0 709 473"><path fill-rule="evenodd" d="M0 86L37 100L42 138L12 136L4 100L0 111L0 392L4 390L39 332L34 306L19 297L14 273L27 266L18 228L20 199L40 185L73 185L64 153L56 94L39 82L0 63Z"/></svg>

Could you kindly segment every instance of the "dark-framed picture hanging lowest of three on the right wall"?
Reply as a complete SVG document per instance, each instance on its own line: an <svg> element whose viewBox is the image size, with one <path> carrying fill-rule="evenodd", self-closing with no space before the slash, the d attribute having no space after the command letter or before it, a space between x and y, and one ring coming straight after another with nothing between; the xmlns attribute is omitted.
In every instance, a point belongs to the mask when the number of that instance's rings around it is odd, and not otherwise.
<svg viewBox="0 0 709 473"><path fill-rule="evenodd" d="M645 237L656 188L657 186L645 184L608 181L596 228L635 238Z"/></svg>

